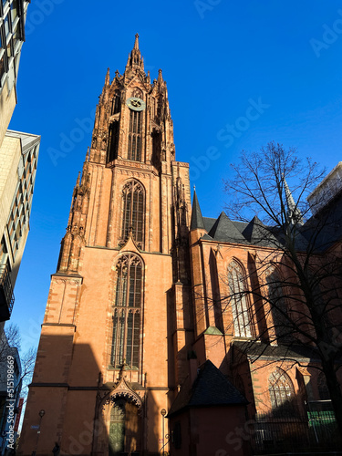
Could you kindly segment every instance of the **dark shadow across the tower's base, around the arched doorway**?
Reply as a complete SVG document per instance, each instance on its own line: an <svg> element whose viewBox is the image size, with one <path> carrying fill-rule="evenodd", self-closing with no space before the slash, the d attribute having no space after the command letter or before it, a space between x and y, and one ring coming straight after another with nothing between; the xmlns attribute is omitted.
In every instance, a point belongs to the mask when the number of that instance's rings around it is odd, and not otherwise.
<svg viewBox="0 0 342 456"><path fill-rule="evenodd" d="M123 368L118 382L103 383L92 348L74 339L74 327L43 326L17 454L47 456L56 442L61 455L159 454L161 409L153 390L130 383Z"/></svg>

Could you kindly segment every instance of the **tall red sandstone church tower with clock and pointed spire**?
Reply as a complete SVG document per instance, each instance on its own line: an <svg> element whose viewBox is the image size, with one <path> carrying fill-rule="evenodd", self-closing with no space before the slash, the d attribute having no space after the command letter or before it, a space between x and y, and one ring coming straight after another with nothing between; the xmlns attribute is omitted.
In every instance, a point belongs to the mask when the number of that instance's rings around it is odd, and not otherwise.
<svg viewBox="0 0 342 456"><path fill-rule="evenodd" d="M136 35L124 73L108 70L99 97L19 454L50 454L55 442L61 454L168 450L163 409L187 375L192 342L190 216L166 83L161 70L153 81L145 74Z"/></svg>

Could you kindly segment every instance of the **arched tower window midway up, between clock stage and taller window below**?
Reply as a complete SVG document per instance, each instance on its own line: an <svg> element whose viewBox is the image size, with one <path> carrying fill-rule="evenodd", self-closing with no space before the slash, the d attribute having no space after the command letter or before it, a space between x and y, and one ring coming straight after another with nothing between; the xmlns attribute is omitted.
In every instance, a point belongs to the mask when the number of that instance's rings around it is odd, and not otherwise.
<svg viewBox="0 0 342 456"><path fill-rule="evenodd" d="M140 247L144 243L145 192L139 181L129 181L122 189L121 240L125 241L132 232Z"/></svg>

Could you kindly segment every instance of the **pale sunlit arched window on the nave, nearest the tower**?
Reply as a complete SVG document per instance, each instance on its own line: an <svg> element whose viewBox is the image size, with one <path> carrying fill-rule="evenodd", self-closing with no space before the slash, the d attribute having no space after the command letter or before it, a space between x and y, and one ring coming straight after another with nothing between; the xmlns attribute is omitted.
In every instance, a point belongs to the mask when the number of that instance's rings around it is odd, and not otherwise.
<svg viewBox="0 0 342 456"><path fill-rule="evenodd" d="M244 273L241 266L235 261L228 268L228 284L232 303L234 335L252 337Z"/></svg>

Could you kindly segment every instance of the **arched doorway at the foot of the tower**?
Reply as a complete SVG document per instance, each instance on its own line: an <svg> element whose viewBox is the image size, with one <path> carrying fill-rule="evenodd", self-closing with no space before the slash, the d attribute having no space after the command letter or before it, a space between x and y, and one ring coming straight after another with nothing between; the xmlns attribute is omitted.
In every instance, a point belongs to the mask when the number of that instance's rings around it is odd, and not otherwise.
<svg viewBox="0 0 342 456"><path fill-rule="evenodd" d="M140 413L127 399L116 399L110 409L109 456L140 451Z"/></svg>

